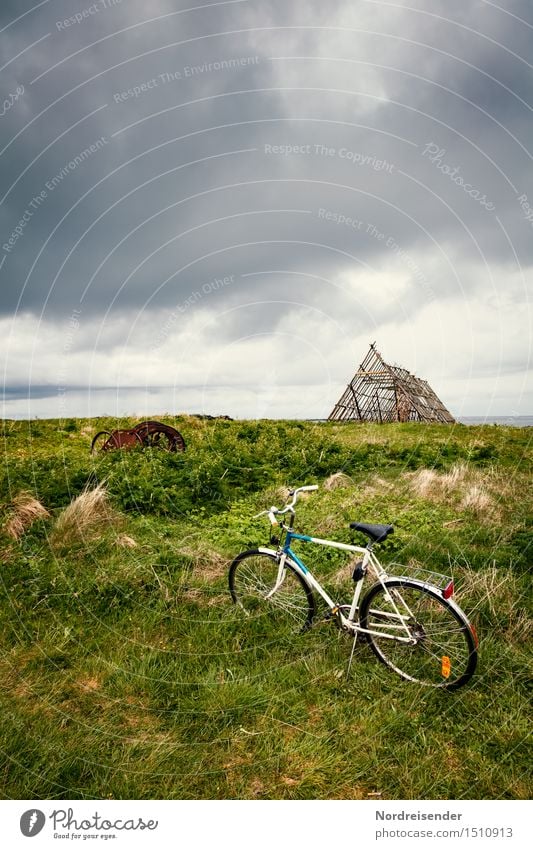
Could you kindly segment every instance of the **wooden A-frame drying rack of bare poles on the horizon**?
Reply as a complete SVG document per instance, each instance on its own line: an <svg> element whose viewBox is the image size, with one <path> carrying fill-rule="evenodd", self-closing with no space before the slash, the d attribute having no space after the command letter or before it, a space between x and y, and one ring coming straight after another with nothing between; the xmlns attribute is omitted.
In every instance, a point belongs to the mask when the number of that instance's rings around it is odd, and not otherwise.
<svg viewBox="0 0 533 849"><path fill-rule="evenodd" d="M375 343L328 417L334 421L442 422L455 419L427 381L390 366Z"/></svg>

